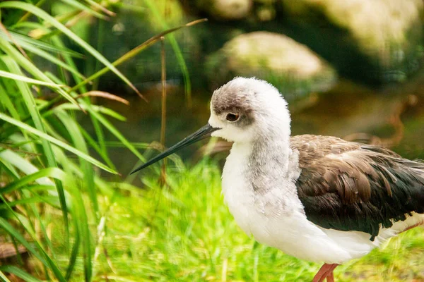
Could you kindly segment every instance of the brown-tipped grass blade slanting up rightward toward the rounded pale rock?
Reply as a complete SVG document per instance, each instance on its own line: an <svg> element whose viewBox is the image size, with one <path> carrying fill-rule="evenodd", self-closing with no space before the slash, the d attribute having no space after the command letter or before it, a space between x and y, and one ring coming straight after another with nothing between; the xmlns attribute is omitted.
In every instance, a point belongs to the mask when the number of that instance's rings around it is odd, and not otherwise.
<svg viewBox="0 0 424 282"><path fill-rule="evenodd" d="M158 35L155 35L155 36L151 37L150 39L146 40L145 42L143 42L142 44L140 44L136 48L131 49L130 51L126 52L126 54L124 54L119 59L117 59L116 61L114 61L112 63L112 65L119 66L124 61L126 61L128 59L131 59L132 57L136 56L136 54L139 54L144 49L146 49L146 48L150 47L152 44L155 44L156 42L158 42L160 40L160 37L163 37L163 36L165 36L165 35L167 35L167 34L169 34L171 32L175 32L176 30L182 29L184 27L190 27L190 26L196 25L198 23L204 23L205 21L206 21L206 18L202 18L200 20L193 20L192 22L187 23L185 25L180 25L179 27L174 27L174 28L171 28L169 30L165 30L164 32L160 32ZM78 88L80 88L81 86L86 85L88 82L90 82L92 80L95 80L95 78L98 78L101 75L104 75L108 71L109 71L108 68L102 68L97 73L94 73L93 75L90 75L90 77L87 78L86 80L83 80L82 82L80 82L77 85L75 85L74 87L72 87L70 91L78 90Z"/></svg>

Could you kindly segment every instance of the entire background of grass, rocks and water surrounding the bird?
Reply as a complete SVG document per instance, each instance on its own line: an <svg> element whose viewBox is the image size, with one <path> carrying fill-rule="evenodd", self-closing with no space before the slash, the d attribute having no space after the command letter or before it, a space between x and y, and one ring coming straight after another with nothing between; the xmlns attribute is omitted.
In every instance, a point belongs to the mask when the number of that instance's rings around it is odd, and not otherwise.
<svg viewBox="0 0 424 282"><path fill-rule="evenodd" d="M235 76L281 91L293 135L424 158L422 0L27 0L0 1L0 15L5 281L310 281L319 265L233 222L228 143L129 176L204 125ZM423 234L336 279L424 281Z"/></svg>

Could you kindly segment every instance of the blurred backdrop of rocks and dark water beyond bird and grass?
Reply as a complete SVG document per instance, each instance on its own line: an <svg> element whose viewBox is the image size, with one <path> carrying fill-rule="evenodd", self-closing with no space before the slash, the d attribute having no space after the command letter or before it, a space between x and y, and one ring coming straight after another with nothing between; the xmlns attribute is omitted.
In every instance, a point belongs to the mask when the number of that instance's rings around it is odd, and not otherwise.
<svg viewBox="0 0 424 282"><path fill-rule="evenodd" d="M166 25L208 18L175 32L178 47L165 43L168 145L203 125L213 90L240 75L281 91L295 135L335 135L423 158L422 1L155 1L157 13L144 1L119 2L112 20L80 23L111 61ZM148 104L113 73L100 78L100 90L131 102L105 101L128 118L116 125L130 140L159 140L160 50L155 44L120 67ZM136 157L121 153L128 159L119 154L117 164L128 172Z"/></svg>

